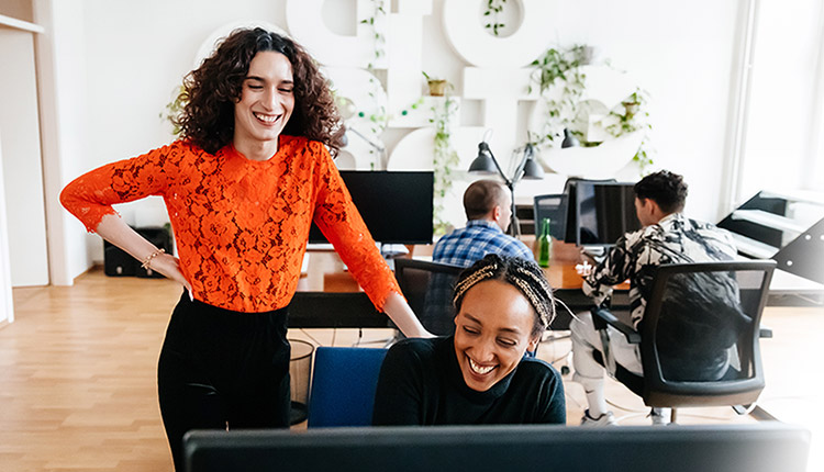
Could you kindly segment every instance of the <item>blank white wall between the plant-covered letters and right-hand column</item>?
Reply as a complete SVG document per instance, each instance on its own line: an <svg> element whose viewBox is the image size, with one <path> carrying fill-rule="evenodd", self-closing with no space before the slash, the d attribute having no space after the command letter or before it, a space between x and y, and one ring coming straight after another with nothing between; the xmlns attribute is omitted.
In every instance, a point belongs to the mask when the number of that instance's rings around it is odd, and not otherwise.
<svg viewBox="0 0 824 472"><path fill-rule="evenodd" d="M595 45L652 98L655 168L684 176L687 212L720 220L739 1L564 2L558 40ZM595 12L598 12L595 14ZM634 168L620 173L637 180Z"/></svg>

